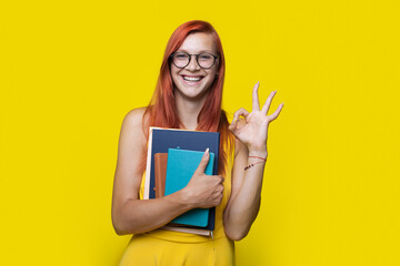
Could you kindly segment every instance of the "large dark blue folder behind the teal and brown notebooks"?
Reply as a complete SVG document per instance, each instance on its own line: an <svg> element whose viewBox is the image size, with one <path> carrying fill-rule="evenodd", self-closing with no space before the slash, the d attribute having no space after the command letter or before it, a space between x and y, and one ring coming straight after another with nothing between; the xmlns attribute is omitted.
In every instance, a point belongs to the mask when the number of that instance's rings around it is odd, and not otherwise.
<svg viewBox="0 0 400 266"><path fill-rule="evenodd" d="M168 153L168 149L182 149L198 152L204 152L210 149L214 154L213 175L218 174L218 157L220 134L218 132L184 131L152 129L151 140L151 171L150 171L150 191L149 198L156 198L154 192L154 154ZM214 229L216 207L210 208L209 223L204 229Z"/></svg>

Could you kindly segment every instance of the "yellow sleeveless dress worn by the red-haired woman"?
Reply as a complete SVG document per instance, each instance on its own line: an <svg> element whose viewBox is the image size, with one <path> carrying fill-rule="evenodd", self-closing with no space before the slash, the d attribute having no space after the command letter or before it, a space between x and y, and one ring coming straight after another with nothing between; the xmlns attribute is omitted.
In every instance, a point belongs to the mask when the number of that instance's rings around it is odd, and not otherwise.
<svg viewBox="0 0 400 266"><path fill-rule="evenodd" d="M223 197L216 207L213 237L154 229L134 234L130 239L120 266L232 266L234 265L234 242L223 229L222 215L231 193L231 170L233 153L227 160L227 174L223 182ZM140 187L140 197L144 191L144 178Z"/></svg>

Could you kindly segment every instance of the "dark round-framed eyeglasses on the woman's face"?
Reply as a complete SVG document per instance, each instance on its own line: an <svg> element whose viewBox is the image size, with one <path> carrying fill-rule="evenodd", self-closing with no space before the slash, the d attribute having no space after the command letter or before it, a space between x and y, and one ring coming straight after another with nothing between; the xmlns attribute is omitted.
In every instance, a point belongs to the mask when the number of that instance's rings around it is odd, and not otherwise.
<svg viewBox="0 0 400 266"><path fill-rule="evenodd" d="M202 69L210 69L218 59L217 55L207 52L199 54L190 54L187 52L174 52L170 55L170 59L178 69L184 69L190 63L192 55L196 55L196 61Z"/></svg>

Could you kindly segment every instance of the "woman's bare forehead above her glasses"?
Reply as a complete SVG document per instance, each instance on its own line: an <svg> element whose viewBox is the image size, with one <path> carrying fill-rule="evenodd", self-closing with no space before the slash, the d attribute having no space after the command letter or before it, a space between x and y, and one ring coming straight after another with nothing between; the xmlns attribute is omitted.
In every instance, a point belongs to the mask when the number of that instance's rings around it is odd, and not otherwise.
<svg viewBox="0 0 400 266"><path fill-rule="evenodd" d="M184 39L182 45L178 49L189 53L198 53L202 51L216 52L216 44L210 33L196 32Z"/></svg>

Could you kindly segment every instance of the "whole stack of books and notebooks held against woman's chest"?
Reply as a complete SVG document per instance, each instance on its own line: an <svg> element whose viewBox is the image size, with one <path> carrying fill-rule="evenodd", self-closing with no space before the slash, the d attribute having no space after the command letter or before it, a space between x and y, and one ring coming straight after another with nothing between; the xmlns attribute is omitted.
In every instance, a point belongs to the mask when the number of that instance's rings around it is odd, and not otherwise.
<svg viewBox="0 0 400 266"><path fill-rule="evenodd" d="M162 197L189 183L208 147L204 173L218 174L218 132L150 127L144 181L144 200ZM212 236L216 208L194 208L163 226L163 229Z"/></svg>

